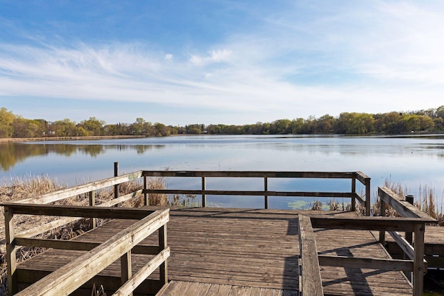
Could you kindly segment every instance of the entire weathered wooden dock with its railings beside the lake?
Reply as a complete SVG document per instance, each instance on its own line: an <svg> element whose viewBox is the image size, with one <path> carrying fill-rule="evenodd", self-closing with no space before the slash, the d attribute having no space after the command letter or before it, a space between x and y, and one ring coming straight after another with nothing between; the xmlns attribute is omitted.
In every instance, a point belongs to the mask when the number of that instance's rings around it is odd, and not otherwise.
<svg viewBox="0 0 444 296"><path fill-rule="evenodd" d="M148 177L198 177L200 189L153 189ZM207 179L262 178L263 190L211 190ZM350 191L270 191L270 178L349 179ZM143 189L119 196L119 184L142 180ZM359 195L357 182L365 188ZM101 204L96 191L114 188ZM264 209L149 207L150 195L263 196ZM76 196L89 206L53 204ZM275 196L348 198L351 212L268 209ZM5 209L9 295L422 295L425 225L436 220L378 189L381 209L401 217L370 217L370 177L361 172L138 171L1 204ZM142 198L145 207L117 207ZM366 216L355 214L361 203ZM382 211L385 212L385 211ZM16 215L59 216L16 233ZM87 218L91 230L70 241L44 234ZM96 219L112 219L96 227ZM167 231L168 229L168 231ZM377 231L372 233L371 230ZM411 234L414 245L400 232ZM384 248L390 233L404 259ZM379 234L379 235L377 235ZM49 250L22 263L19 246ZM409 281L403 272L411 272Z"/></svg>

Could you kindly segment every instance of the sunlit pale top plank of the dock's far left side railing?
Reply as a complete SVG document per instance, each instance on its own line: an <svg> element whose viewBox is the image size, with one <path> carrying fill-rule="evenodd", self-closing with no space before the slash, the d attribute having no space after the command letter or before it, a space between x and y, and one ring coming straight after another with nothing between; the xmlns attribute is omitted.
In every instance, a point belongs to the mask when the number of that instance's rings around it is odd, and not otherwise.
<svg viewBox="0 0 444 296"><path fill-rule="evenodd" d="M103 189L105 187L113 186L115 184L136 180L139 177L142 177L142 171L121 175L119 177L110 177L108 179L96 182L90 182L69 189L62 189L51 193L45 193L31 198L23 198L22 200L16 200L15 202L24 203L24 204L47 204L49 202L56 202L57 200L62 200L64 198L70 198L71 196L74 195L87 193L89 191Z"/></svg>

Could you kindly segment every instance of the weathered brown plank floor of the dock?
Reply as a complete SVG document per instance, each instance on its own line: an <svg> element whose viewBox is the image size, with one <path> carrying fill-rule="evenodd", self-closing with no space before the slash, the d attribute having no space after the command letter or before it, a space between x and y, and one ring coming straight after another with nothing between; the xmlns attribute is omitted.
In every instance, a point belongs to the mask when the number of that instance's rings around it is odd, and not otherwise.
<svg viewBox="0 0 444 296"><path fill-rule="evenodd" d="M354 213L304 211L304 214L350 217ZM132 220L112 220L75 238L76 241L104 242ZM387 259L388 254L369 231L314 229L318 254ZM142 244L153 245L153 234ZM298 211L275 209L176 208L168 223L167 289L178 287L183 294L222 295L209 291L225 289L226 295L297 295L299 290ZM17 281L24 287L38 277L83 254L82 251L48 250L17 265ZM133 272L137 256L133 254ZM120 282L120 262L99 273L96 286ZM159 277L158 273L152 275ZM321 266L325 295L412 295L412 287L402 272L362 268ZM101 281L101 282L99 282ZM184 284L185 283L185 284ZM186 284L188 283L188 284ZM235 287L235 288L233 288ZM244 287L244 288L242 288ZM112 290L112 289L111 289ZM164 290L163 295L168 294ZM197 293L196 291L200 291ZM232 291L232 292L230 292ZM259 292L257 292L259 291ZM86 291L84 291L86 292ZM268 294L265 294L265 293ZM91 290L89 290L89 294ZM165 294L166 293L166 294ZM189 293L189 295L191 295ZM237 294L235 294L237 293ZM112 294L112 293L110 293Z"/></svg>

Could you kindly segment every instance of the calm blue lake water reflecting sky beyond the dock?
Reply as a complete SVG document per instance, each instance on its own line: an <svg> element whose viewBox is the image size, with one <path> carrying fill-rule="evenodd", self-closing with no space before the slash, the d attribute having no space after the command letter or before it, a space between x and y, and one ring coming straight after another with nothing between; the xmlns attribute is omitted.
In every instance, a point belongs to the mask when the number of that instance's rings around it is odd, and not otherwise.
<svg viewBox="0 0 444 296"><path fill-rule="evenodd" d="M69 186L138 170L171 171L362 171L372 178L372 195L386 180L418 196L430 186L442 207L444 135L346 136L186 136L94 141L0 143L0 176L44 175ZM210 180L207 189L262 190L263 181ZM198 189L200 180L167 180L168 187ZM273 180L269 190L350 191L350 180ZM321 188L321 189L320 189ZM359 189L358 189L359 190ZM208 199L226 207L263 207L259 198ZM281 198L271 207L293 207Z"/></svg>

